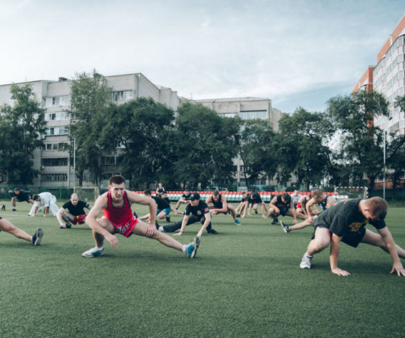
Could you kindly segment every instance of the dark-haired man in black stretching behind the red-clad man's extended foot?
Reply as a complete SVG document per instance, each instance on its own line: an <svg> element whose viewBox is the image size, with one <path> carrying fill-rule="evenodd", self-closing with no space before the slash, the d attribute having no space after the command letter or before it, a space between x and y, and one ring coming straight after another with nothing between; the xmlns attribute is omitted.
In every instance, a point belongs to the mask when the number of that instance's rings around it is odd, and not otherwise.
<svg viewBox="0 0 405 338"><path fill-rule="evenodd" d="M207 203L200 200L200 194L198 194L198 192L194 192L191 194L190 201L186 207L185 216L181 221L169 224L168 226L158 226L157 228L159 231L164 232L174 232L180 229L180 232L175 235L181 236L186 226L198 221L200 221L203 226L200 228L200 231L198 231L197 237L201 237L205 229L207 229L207 232L210 234L218 234L216 230L211 228L211 215L209 215Z"/></svg>

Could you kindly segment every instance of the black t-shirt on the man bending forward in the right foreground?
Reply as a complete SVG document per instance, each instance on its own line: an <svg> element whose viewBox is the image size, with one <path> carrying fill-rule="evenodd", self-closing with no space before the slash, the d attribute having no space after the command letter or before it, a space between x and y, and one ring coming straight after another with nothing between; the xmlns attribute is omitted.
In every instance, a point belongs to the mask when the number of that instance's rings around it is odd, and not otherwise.
<svg viewBox="0 0 405 338"><path fill-rule="evenodd" d="M346 199L326 209L314 220L314 226L326 226L330 232L339 237L343 237L348 232L356 232L370 223L376 229L386 227L384 219L382 221L368 221L359 211L361 199Z"/></svg>

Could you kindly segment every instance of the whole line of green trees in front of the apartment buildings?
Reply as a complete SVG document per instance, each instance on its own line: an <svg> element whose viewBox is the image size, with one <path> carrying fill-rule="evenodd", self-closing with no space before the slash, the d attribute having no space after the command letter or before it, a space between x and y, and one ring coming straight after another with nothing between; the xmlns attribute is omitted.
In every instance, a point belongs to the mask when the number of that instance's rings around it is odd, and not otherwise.
<svg viewBox="0 0 405 338"><path fill-rule="evenodd" d="M12 86L15 106L1 108L0 172L16 183L32 181L32 150L41 146L44 110L28 86ZM404 111L404 97L395 105ZM34 104L35 103L35 104ZM292 175L297 186L368 186L384 174L384 132L373 118L388 121L388 102L377 92L334 97L326 112L297 108L284 115L279 131L268 121L220 117L200 104L184 103L174 112L152 99L117 105L104 77L78 74L72 81L70 144L81 184L90 172L95 184L102 157L117 156L131 188L160 181L164 186L202 188L233 181L232 159L241 157L247 186L258 177L282 186ZM3 134L4 132L4 134ZM404 135L386 135L386 177L395 184L405 170ZM73 149L70 147L70 152Z"/></svg>

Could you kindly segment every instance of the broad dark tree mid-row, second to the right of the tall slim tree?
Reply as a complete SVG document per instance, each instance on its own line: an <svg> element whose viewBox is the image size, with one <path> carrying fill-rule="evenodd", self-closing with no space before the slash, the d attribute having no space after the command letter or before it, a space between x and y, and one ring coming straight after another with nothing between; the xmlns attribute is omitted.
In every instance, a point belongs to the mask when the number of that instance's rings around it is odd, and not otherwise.
<svg viewBox="0 0 405 338"><path fill-rule="evenodd" d="M201 104L185 103L178 109L173 135L174 175L185 186L202 188L211 182L232 180L236 157L236 119L220 117Z"/></svg>

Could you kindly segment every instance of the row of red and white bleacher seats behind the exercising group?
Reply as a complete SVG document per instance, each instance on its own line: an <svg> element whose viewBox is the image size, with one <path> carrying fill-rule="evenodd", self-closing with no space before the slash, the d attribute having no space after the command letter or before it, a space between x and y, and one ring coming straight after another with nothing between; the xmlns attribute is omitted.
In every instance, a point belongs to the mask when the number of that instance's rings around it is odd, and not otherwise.
<svg viewBox="0 0 405 338"><path fill-rule="evenodd" d="M138 192L138 194L143 195L142 191L135 191ZM211 191L190 191L191 193L193 192L198 192L200 194L200 198L203 199L205 201L205 199L207 199L207 197L209 197L212 192ZM285 191L271 191L271 192L266 192L266 191L259 191L259 195L261 196L261 199L268 203L270 202L270 200L272 199L272 197L277 196L277 195L281 195L283 194L283 192ZM169 197L170 201L178 201L180 199L180 197L182 197L182 195L184 194L184 191L167 191L167 197ZM246 192L248 195L250 194L250 191ZM291 195L293 193L293 191L288 191L288 194ZM309 195L310 192L299 192L299 195L303 196L303 195ZM323 194L325 195L335 195L333 192L323 192ZM156 191L152 191L152 195L157 195ZM228 202L239 202L242 199L242 192L241 191L221 191L220 195L225 195L225 197L227 197L227 201Z"/></svg>

